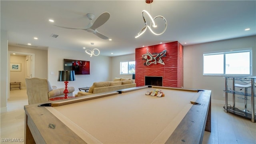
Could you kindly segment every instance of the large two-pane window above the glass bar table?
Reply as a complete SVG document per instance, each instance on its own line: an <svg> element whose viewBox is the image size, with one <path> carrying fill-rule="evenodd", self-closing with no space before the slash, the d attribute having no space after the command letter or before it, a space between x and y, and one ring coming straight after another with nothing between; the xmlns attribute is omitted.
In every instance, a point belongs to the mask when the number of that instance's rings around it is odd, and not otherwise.
<svg viewBox="0 0 256 144"><path fill-rule="evenodd" d="M205 53L204 75L237 75L252 74L252 49Z"/></svg>

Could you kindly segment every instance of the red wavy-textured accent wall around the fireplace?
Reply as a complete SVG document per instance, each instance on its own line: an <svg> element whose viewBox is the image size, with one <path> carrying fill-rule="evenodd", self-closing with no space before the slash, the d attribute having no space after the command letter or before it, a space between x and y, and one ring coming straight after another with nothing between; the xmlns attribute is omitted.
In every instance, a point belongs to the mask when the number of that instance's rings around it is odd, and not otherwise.
<svg viewBox="0 0 256 144"><path fill-rule="evenodd" d="M156 63L145 66L142 58L147 52L160 53L166 50L166 57L162 57L164 65ZM183 46L178 42L169 42L135 49L135 82L137 86L145 85L145 76L162 76L163 86L183 86Z"/></svg>

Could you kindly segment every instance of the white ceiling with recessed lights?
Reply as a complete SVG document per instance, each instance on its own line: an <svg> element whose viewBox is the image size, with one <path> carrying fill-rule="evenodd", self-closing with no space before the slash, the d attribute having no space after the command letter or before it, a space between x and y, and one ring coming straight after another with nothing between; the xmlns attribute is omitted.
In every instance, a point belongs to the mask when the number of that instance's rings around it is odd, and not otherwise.
<svg viewBox="0 0 256 144"><path fill-rule="evenodd" d="M183 46L256 35L256 1L173 1L154 0L84 0L84 1L4 1L1 0L1 30L8 33L9 45L26 45L32 48L63 48L84 52L98 48L104 56L133 54L135 48L160 42L178 41ZM134 38L144 27L142 10L152 17L162 15L167 20L164 34L156 36L149 30ZM111 38L103 40L84 30L72 30L53 26L85 28L90 20L103 12L110 19L97 30ZM148 23L148 17L145 16ZM93 21L94 22L94 21ZM162 26L160 23L159 29ZM250 28L245 31L244 29ZM159 31L161 31L160 29ZM52 38L52 34L59 35ZM38 40L34 40L38 37ZM90 42L94 42L91 45ZM187 44L184 44L184 43ZM111 52L113 54L111 54Z"/></svg>

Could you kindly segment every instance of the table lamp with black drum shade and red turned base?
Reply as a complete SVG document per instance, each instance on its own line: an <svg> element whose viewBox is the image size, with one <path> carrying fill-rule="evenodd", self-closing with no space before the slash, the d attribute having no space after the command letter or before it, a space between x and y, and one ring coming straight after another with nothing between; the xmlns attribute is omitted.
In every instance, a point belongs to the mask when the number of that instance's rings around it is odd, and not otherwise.
<svg viewBox="0 0 256 144"><path fill-rule="evenodd" d="M75 71L74 70L62 70L59 71L58 81L65 83L65 90L64 90L64 98L68 98L68 81L75 80Z"/></svg>

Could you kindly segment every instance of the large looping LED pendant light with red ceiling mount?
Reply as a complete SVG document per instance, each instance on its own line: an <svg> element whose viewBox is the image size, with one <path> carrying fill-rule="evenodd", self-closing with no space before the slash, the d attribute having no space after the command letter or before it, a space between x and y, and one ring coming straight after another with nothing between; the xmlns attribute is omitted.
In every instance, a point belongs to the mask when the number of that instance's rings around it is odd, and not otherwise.
<svg viewBox="0 0 256 144"><path fill-rule="evenodd" d="M151 7L151 3L153 2L153 0L145 0L145 2L146 2L147 4L150 4L150 7ZM150 22L150 26L148 26L148 24L147 24L147 22L146 22L146 20L145 20L144 13L148 14L148 16L149 16L149 18L150 18L150 21L151 21L151 22ZM150 32L152 32L152 33L155 34L155 35L160 35L160 34L162 34L162 33L165 32L165 30L166 30L166 28L167 28L167 22L166 22L166 19L165 19L163 16L156 16L156 17L152 18L152 16L150 15L150 13L149 13L148 11L142 10L142 18L143 18L143 20L144 20L145 26L144 26L144 27L142 28L142 30L135 36L135 38L138 38L139 36L141 36L141 35L147 30L147 28L150 30ZM164 28L164 30L163 30L162 32L160 32L159 34L155 33L155 32L151 29L151 25L152 25L154 28L157 27L157 25L156 25L156 23L155 23L155 21L154 21L156 18L162 18L162 19L164 20L164 23L165 23L165 28Z"/></svg>

